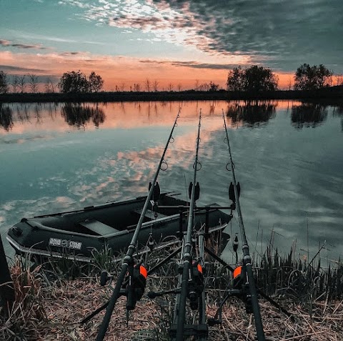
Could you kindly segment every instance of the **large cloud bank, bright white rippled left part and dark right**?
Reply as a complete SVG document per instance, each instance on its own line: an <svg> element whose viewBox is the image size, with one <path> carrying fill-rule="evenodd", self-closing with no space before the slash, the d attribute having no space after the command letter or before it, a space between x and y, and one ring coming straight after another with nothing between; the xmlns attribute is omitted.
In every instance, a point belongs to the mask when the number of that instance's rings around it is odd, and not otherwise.
<svg viewBox="0 0 343 341"><path fill-rule="evenodd" d="M97 25L143 31L154 34L154 41L194 46L211 55L245 56L241 64L264 64L294 71L304 62L322 63L343 71L341 0L91 0L88 3L61 0L59 3L83 9L81 17Z"/></svg>

